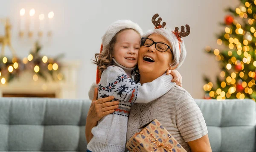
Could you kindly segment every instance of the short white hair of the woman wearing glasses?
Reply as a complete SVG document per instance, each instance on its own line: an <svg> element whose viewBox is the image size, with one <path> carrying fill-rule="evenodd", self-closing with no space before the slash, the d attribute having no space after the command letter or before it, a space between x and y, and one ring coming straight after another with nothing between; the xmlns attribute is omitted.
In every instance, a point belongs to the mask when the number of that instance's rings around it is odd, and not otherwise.
<svg viewBox="0 0 256 152"><path fill-rule="evenodd" d="M143 34L142 37L149 37L151 34L162 35L169 41L169 43L171 44L170 47L173 51L173 59L170 66L172 67L177 66L176 68L179 68L183 64L186 58L186 48L185 48L184 42L180 43L177 37L175 36L175 34L173 34L169 28L166 28L166 29L159 28L159 29L149 30L145 34ZM180 47L179 47L179 44L180 44Z"/></svg>

